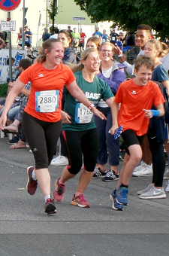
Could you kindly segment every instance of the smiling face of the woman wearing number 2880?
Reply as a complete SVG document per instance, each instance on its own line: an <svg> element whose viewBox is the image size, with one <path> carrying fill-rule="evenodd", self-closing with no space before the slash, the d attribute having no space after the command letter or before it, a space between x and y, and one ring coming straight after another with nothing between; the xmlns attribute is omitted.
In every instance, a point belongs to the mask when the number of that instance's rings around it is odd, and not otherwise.
<svg viewBox="0 0 169 256"><path fill-rule="evenodd" d="M57 66L62 62L64 56L64 48L62 42L53 43L53 48L50 52L47 49L44 50L46 53L46 60L51 66Z"/></svg>

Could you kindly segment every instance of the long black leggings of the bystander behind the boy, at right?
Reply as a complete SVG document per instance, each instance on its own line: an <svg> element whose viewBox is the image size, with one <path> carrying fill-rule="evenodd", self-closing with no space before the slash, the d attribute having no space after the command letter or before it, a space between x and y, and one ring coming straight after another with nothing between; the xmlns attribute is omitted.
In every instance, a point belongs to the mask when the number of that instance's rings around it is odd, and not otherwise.
<svg viewBox="0 0 169 256"><path fill-rule="evenodd" d="M152 183L155 183L155 187L162 187L165 169L164 146L157 141L155 128L149 128L147 137L152 152Z"/></svg>

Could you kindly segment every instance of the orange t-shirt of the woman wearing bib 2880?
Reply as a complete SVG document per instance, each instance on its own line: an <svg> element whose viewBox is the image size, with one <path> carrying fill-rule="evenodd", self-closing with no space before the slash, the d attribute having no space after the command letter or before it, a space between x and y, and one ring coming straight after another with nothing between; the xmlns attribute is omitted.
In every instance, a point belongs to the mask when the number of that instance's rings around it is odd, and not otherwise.
<svg viewBox="0 0 169 256"><path fill-rule="evenodd" d="M26 113L51 123L59 121L61 119L63 87L75 80L71 69L60 64L56 69L49 70L45 69L41 63L36 63L22 72L19 79L23 84L31 81L31 93L25 108ZM53 101L57 102L57 105L55 105L54 111L48 112L50 102ZM43 110L40 110L42 109L40 105L43 105Z"/></svg>

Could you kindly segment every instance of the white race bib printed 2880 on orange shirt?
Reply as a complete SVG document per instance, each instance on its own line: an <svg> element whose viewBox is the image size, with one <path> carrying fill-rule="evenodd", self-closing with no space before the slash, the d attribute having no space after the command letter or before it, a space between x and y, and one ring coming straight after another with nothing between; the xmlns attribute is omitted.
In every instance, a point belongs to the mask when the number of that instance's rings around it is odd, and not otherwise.
<svg viewBox="0 0 169 256"><path fill-rule="evenodd" d="M59 90L43 90L35 93L35 110L42 113L56 111L59 106Z"/></svg>

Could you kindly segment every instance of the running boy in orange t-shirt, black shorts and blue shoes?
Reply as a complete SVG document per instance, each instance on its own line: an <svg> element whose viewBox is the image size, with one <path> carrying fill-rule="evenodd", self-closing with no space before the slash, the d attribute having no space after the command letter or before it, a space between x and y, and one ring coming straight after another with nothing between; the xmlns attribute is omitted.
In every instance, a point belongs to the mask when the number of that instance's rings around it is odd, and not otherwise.
<svg viewBox="0 0 169 256"><path fill-rule="evenodd" d="M113 102L113 126L110 132L113 135L122 126L122 139L128 147L119 182L110 194L115 210L122 210L123 205L128 205L128 183L142 157L140 144L148 130L149 118L164 115L164 97L158 85L150 81L154 69L152 59L139 56L134 61L134 68L136 78L120 84ZM151 109L152 104L157 110Z"/></svg>

